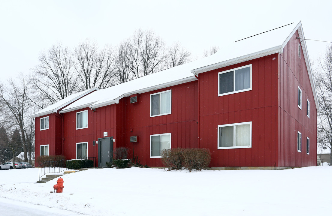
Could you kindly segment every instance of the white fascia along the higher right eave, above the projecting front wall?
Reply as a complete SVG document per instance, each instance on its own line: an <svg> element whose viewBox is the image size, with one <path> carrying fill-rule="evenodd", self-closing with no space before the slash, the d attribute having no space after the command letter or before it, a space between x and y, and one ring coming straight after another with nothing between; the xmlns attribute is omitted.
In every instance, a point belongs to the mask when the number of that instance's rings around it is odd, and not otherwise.
<svg viewBox="0 0 332 216"><path fill-rule="evenodd" d="M226 66L241 63L241 62L244 62L244 61L249 61L249 60L252 60L252 59L255 59L255 58L260 58L260 57L267 56L267 55L272 55L272 54L275 54L275 53L283 53L283 52L284 52L284 49L283 49L282 45L275 46L275 47L265 49L265 50L262 50L262 51L259 51L259 52L251 53L251 54L248 54L248 55L243 55L243 56L236 57L236 58L233 58L233 59L229 59L229 60L226 60L226 61L222 61L222 62L218 62L218 63L215 63L215 64L207 65L205 67L197 68L197 69L191 70L191 72L194 75L198 75L200 73L204 73L204 72L207 72L207 71L210 71L210 70L226 67Z"/></svg>

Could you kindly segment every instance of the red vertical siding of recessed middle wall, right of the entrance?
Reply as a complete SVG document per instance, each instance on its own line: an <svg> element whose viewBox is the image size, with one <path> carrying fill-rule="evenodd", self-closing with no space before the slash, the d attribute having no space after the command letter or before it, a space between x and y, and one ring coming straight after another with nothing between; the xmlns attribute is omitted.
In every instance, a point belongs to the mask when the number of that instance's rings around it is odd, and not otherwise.
<svg viewBox="0 0 332 216"><path fill-rule="evenodd" d="M121 115L125 119L123 143L134 149L141 164L163 166L160 158L150 158L150 135L153 134L171 133L172 148L197 147L197 85L194 81L139 94L139 102L133 104L129 97L122 99L125 103L121 105L125 108ZM150 117L150 94L167 90L172 91L171 114ZM138 136L139 141L130 143L130 136Z"/></svg>

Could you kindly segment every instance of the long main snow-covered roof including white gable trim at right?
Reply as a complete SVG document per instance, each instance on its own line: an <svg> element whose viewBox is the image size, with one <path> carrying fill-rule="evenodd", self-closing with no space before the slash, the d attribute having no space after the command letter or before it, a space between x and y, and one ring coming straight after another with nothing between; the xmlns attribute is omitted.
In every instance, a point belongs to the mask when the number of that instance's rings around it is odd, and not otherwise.
<svg viewBox="0 0 332 216"><path fill-rule="evenodd" d="M221 47L214 55L95 91L68 105L60 112L69 112L86 107L98 108L119 103L121 98L128 97L132 94L141 94L155 89L197 80L196 75L199 73L271 55L273 53L282 53L285 45L295 31L299 32L316 107L317 110L319 110L302 25L301 22L299 22L297 25L293 23L282 28L264 32L263 34L229 43L227 46Z"/></svg>

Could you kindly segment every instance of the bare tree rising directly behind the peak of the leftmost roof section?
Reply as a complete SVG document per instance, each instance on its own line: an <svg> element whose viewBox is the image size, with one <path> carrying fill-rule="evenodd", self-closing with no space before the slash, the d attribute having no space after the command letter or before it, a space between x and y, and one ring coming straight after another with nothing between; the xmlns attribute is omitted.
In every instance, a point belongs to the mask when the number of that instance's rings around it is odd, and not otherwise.
<svg viewBox="0 0 332 216"><path fill-rule="evenodd" d="M106 45L100 52L96 42L81 42L73 53L73 65L79 77L79 90L111 85L114 73L114 50Z"/></svg>

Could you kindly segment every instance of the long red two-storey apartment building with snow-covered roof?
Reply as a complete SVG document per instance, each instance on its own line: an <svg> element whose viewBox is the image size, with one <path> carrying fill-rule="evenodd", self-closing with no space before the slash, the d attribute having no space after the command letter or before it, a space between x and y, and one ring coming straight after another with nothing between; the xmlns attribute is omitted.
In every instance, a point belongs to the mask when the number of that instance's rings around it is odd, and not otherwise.
<svg viewBox="0 0 332 216"><path fill-rule="evenodd" d="M162 167L162 149L207 148L211 168L281 169L316 166L318 109L299 23L32 117L36 156L96 157L103 167L124 146Z"/></svg>

